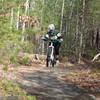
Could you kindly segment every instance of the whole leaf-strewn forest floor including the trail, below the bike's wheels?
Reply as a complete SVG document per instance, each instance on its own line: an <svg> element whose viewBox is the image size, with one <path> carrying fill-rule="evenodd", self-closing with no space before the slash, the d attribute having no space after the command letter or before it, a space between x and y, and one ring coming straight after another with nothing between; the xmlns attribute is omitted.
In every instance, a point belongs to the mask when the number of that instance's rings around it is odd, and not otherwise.
<svg viewBox="0 0 100 100"><path fill-rule="evenodd" d="M18 68L10 65L7 72L0 69L0 77L16 81L37 100L100 100L100 72L86 64L66 62L47 68L33 60Z"/></svg>

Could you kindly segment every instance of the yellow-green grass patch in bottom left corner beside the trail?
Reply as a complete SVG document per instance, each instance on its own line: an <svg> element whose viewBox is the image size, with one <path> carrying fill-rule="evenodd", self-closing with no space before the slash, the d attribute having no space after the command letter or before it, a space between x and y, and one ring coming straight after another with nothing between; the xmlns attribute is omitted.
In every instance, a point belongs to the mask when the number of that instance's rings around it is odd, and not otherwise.
<svg viewBox="0 0 100 100"><path fill-rule="evenodd" d="M22 100L36 100L35 96L28 96L27 93L23 91L18 84L8 80L0 79L0 92L4 97L17 96L22 98Z"/></svg>

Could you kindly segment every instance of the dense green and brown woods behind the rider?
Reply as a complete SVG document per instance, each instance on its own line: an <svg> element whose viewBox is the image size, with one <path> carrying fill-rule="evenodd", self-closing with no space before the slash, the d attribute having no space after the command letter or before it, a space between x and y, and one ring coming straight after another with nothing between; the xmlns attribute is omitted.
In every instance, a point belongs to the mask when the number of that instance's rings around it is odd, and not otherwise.
<svg viewBox="0 0 100 100"><path fill-rule="evenodd" d="M0 58L46 54L41 36L51 23L63 34L61 58L100 53L100 0L0 0Z"/></svg>

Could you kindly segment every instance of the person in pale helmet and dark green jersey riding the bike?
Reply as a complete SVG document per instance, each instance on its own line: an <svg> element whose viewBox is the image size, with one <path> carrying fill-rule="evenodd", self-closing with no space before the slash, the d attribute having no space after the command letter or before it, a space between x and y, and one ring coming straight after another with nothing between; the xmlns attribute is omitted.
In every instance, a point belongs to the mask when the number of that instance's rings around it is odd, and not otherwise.
<svg viewBox="0 0 100 100"><path fill-rule="evenodd" d="M59 48L61 46L61 42L63 41L62 34L60 32L55 31L55 26L54 24L50 24L48 26L48 32L43 38L44 41L51 40L54 46L54 51L55 51L55 58L56 58L56 63L59 63ZM50 45L50 43L49 43Z"/></svg>

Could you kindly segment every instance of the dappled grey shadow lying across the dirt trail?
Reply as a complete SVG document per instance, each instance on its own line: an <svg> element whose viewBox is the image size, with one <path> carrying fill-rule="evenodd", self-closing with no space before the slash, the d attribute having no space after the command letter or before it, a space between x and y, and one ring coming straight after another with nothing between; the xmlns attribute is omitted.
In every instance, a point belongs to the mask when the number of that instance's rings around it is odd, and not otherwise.
<svg viewBox="0 0 100 100"><path fill-rule="evenodd" d="M28 95L37 96L37 100L95 100L73 83L65 83L52 71L27 73L18 83Z"/></svg>

